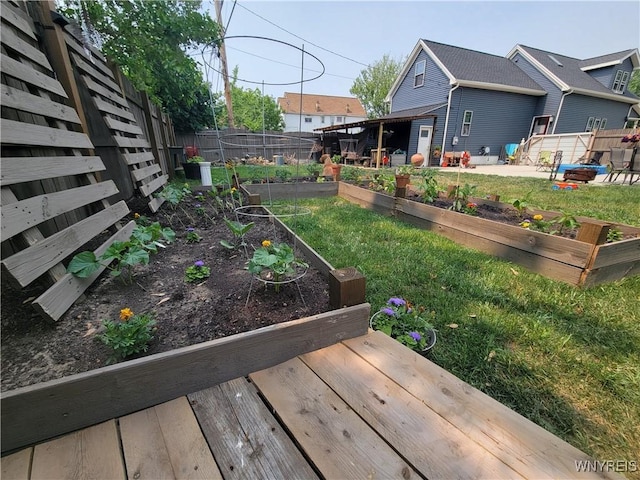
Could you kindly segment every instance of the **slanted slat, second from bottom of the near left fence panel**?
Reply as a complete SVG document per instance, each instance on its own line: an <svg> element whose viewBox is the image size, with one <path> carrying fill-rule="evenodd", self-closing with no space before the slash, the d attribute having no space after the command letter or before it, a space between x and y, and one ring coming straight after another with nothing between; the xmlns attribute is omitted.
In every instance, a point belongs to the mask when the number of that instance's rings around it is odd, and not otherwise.
<svg viewBox="0 0 640 480"><path fill-rule="evenodd" d="M129 213L129 207L124 200L121 200L9 258L5 258L2 260L2 266L7 269L14 280L26 287L49 268L60 263L127 213Z"/></svg>

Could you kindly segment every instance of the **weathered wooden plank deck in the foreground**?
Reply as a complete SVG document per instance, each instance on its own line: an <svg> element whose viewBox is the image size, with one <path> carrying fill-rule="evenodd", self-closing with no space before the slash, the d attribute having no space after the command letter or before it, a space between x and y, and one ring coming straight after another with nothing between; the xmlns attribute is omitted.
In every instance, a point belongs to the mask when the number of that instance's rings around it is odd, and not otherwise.
<svg viewBox="0 0 640 480"><path fill-rule="evenodd" d="M91 408L87 405L86 408ZM2 478L615 478L379 332L2 458Z"/></svg>

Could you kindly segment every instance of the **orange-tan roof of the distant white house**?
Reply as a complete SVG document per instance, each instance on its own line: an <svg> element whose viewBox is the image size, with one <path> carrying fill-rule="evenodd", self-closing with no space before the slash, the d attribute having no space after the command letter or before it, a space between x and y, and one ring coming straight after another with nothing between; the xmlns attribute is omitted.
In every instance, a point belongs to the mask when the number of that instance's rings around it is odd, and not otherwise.
<svg viewBox="0 0 640 480"><path fill-rule="evenodd" d="M285 92L278 98L278 105L284 113L300 113L300 94ZM366 117L364 107L356 97L336 97L331 95L302 94L303 115L344 115Z"/></svg>

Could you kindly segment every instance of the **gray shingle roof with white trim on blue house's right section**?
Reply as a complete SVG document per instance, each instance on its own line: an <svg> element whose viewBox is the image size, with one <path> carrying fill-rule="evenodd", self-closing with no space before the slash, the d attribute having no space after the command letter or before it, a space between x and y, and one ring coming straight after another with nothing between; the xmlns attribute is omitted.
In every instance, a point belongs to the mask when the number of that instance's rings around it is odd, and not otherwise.
<svg viewBox="0 0 640 480"><path fill-rule="evenodd" d="M625 50L624 52L595 57L589 60L580 60L525 45L516 45L507 57L513 58L518 53L535 65L543 75L563 91L573 90L576 93L627 103L637 103L638 101L638 97L628 90L625 90L623 94L613 93L610 88L602 85L602 83L586 73L587 70L592 68L622 63L624 59L629 57L632 57L632 63L636 67L639 62L637 50ZM589 68L590 65L592 68Z"/></svg>

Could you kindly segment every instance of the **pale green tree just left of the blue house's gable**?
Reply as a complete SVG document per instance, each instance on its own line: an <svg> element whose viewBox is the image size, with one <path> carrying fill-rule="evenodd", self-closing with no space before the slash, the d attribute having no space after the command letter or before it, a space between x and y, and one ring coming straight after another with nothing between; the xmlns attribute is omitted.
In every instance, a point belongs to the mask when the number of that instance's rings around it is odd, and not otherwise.
<svg viewBox="0 0 640 480"><path fill-rule="evenodd" d="M388 113L384 98L391 90L391 85L400 74L401 60L394 60L384 55L377 62L360 72L349 92L358 97L369 118L381 117Z"/></svg>

